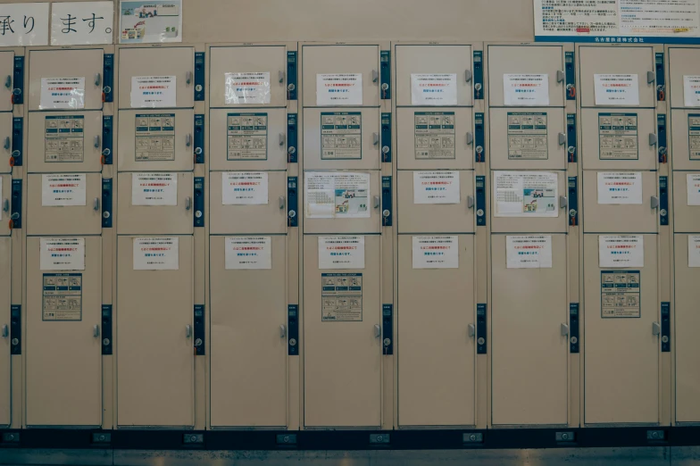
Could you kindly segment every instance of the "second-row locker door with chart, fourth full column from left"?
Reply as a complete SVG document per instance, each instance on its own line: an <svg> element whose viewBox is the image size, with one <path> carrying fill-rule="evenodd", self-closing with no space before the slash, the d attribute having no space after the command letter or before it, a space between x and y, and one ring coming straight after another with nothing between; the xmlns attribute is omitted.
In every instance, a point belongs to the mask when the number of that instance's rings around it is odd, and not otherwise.
<svg viewBox="0 0 700 466"><path fill-rule="evenodd" d="M379 109L304 109L304 170L379 170Z"/></svg>

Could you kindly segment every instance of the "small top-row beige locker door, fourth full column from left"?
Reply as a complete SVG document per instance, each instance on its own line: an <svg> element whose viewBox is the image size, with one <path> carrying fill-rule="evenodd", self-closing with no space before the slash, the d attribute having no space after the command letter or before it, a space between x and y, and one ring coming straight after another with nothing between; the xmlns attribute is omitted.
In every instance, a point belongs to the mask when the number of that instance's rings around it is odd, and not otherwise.
<svg viewBox="0 0 700 466"><path fill-rule="evenodd" d="M379 106L379 46L303 46L304 107L316 100L317 75L362 74L362 104Z"/></svg>

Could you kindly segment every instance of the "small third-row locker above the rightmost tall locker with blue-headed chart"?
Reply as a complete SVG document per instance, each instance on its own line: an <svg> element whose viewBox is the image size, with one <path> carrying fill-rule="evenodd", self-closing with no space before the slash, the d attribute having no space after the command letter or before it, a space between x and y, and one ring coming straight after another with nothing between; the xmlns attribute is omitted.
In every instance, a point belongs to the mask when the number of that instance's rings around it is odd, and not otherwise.
<svg viewBox="0 0 700 466"><path fill-rule="evenodd" d="M583 228L587 233L655 233L658 209L657 177L654 171L637 171L641 175L641 204L600 204L598 173L583 172ZM610 172L635 173L635 172ZM631 188L630 188L631 189Z"/></svg>

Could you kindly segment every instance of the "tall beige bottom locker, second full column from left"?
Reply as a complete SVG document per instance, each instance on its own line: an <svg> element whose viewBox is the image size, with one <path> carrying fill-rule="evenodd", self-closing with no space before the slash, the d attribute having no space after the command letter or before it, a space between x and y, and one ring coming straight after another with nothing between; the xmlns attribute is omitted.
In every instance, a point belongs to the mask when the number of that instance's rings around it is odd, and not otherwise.
<svg viewBox="0 0 700 466"><path fill-rule="evenodd" d="M121 427L194 424L193 237L169 238L178 239L174 251L179 254L173 260L177 269L134 270L138 238L117 240L117 424Z"/></svg>

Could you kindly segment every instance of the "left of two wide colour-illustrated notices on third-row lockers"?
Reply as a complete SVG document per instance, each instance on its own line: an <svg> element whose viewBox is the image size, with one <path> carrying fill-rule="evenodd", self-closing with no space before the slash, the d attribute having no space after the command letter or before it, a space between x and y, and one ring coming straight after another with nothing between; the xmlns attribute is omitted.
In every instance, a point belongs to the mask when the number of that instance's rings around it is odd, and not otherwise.
<svg viewBox="0 0 700 466"><path fill-rule="evenodd" d="M304 171L307 219L369 219L370 174L352 171Z"/></svg>

